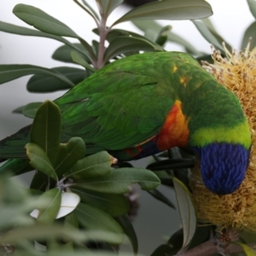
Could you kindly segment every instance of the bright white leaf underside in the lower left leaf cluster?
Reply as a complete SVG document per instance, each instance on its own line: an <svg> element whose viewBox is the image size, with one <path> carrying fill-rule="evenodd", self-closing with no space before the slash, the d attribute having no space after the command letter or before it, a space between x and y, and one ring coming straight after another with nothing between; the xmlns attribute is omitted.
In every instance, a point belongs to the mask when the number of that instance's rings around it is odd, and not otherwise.
<svg viewBox="0 0 256 256"><path fill-rule="evenodd" d="M71 192L62 192L60 209L55 218L62 218L73 212L73 210L79 205L79 202L79 195Z"/></svg>

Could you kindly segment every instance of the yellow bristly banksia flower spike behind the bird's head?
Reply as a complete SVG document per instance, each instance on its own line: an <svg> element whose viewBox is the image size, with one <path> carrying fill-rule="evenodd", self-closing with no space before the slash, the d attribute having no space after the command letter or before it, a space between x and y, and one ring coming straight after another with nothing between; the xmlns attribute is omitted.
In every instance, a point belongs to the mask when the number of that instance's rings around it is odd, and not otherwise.
<svg viewBox="0 0 256 256"><path fill-rule="evenodd" d="M256 232L256 48L244 52L224 46L225 57L212 46L213 64L202 61L220 84L240 99L252 131L253 144L247 174L239 189L230 195L214 195L201 181L199 162L192 170L190 186L195 197L198 218L215 224L218 230L233 228Z"/></svg>

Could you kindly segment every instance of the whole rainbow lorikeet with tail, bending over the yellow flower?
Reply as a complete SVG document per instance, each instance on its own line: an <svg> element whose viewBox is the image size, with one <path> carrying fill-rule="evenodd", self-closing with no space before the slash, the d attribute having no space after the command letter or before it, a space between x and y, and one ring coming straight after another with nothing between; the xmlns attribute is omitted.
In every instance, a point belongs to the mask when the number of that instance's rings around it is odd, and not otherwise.
<svg viewBox="0 0 256 256"><path fill-rule="evenodd" d="M213 193L235 191L248 165L251 134L236 96L191 56L151 52L113 61L55 100L61 140L82 137L87 154L140 159L189 146ZM0 142L0 159L26 157L29 127Z"/></svg>

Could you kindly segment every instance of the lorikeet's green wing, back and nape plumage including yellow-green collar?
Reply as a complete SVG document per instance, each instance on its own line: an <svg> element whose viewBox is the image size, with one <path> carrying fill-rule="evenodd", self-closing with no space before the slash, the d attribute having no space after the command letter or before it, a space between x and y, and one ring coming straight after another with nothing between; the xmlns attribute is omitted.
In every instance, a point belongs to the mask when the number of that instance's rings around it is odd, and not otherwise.
<svg viewBox="0 0 256 256"><path fill-rule="evenodd" d="M189 120L189 144L224 140L249 147L250 132L236 96L184 53L114 61L56 103L65 132L114 150L156 135L175 100L183 103ZM239 131L243 136L236 136Z"/></svg>

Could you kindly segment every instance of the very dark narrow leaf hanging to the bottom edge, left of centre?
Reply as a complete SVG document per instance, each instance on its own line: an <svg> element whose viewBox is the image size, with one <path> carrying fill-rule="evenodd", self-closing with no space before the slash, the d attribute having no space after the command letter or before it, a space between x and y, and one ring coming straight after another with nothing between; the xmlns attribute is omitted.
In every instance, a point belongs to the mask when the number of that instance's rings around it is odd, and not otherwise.
<svg viewBox="0 0 256 256"><path fill-rule="evenodd" d="M122 229L124 230L125 235L131 241L133 253L135 253L137 255L137 250L138 250L137 235L136 235L135 230L133 229L130 218L127 215L124 215L124 216L121 216L121 217L118 217L115 219L120 224Z"/></svg>

